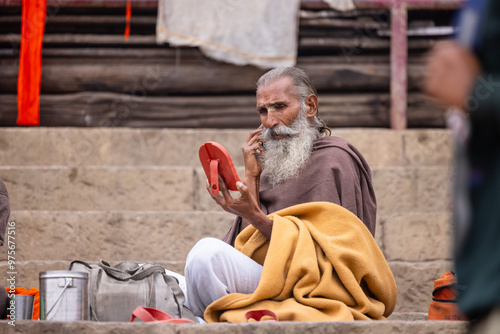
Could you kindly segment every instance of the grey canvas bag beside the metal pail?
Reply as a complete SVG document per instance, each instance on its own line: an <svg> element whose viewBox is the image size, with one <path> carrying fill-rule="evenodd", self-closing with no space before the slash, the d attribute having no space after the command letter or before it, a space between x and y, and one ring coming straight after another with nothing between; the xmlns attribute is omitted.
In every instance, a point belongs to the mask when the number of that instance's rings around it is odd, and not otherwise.
<svg viewBox="0 0 500 334"><path fill-rule="evenodd" d="M130 321L136 307L143 306L198 322L184 306L179 282L167 275L163 266L132 261L115 266L104 260L98 264L73 261L69 270L89 274L88 304L93 321Z"/></svg>

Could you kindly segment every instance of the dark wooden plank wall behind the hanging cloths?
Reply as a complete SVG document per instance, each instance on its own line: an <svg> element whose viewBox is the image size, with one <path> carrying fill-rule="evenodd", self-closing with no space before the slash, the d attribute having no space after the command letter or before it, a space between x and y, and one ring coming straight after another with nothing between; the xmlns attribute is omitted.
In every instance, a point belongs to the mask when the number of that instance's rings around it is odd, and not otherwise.
<svg viewBox="0 0 500 334"><path fill-rule="evenodd" d="M216 62L196 48L156 45L156 6L148 3L133 6L128 41L123 7L49 8L41 125L257 126L255 82L265 70ZM448 33L421 32L449 28L452 15L451 10L409 12L409 127L444 126L440 107L420 86L425 53ZM341 13L303 4L297 66L316 83L320 115L331 126L389 127L389 17L379 9ZM21 7L1 6L1 126L15 125L20 27Z"/></svg>

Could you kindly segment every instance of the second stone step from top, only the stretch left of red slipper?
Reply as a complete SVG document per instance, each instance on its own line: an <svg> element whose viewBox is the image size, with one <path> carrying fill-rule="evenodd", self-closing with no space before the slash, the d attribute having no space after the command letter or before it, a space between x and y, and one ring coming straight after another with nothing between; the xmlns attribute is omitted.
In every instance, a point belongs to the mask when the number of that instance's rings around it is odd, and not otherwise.
<svg viewBox="0 0 500 334"><path fill-rule="evenodd" d="M11 210L192 210L184 167L3 167Z"/></svg>

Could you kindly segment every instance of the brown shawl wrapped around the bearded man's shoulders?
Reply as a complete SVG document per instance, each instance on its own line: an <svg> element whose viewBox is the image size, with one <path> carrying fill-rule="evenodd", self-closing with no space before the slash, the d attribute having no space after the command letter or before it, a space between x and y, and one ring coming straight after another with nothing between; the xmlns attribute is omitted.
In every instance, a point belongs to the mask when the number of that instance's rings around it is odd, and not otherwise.
<svg viewBox="0 0 500 334"><path fill-rule="evenodd" d="M264 213L308 202L338 204L354 213L375 235L377 204L371 170L361 153L344 139L316 139L300 174L275 188L269 185L266 171L262 173L260 203ZM246 226L238 217L223 240L234 246L236 236Z"/></svg>

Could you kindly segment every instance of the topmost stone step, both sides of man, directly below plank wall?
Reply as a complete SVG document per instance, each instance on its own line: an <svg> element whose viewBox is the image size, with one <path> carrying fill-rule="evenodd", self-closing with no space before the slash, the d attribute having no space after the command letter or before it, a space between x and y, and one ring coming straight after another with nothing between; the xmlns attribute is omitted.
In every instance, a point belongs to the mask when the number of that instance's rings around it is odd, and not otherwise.
<svg viewBox="0 0 500 334"><path fill-rule="evenodd" d="M2 128L4 166L199 166L206 141L224 145L236 165L250 130L129 128ZM448 130L334 129L372 167L444 166L452 160Z"/></svg>

